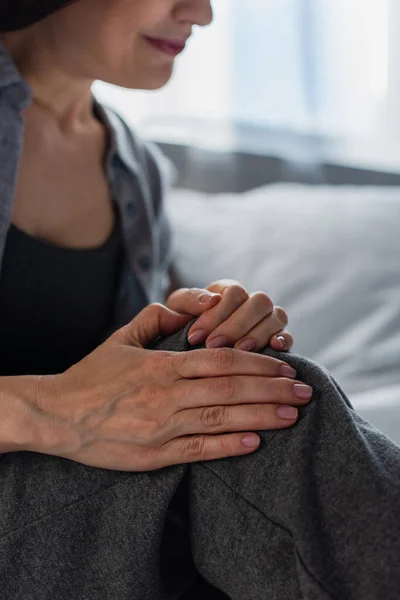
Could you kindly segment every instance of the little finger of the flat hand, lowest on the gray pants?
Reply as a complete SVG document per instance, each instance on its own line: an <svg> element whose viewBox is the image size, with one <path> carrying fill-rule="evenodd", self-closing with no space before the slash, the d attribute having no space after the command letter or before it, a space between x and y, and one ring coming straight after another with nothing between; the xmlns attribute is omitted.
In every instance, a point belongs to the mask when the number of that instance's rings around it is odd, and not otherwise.
<svg viewBox="0 0 400 600"><path fill-rule="evenodd" d="M252 432L179 437L161 448L160 468L250 454L259 445L259 436Z"/></svg>

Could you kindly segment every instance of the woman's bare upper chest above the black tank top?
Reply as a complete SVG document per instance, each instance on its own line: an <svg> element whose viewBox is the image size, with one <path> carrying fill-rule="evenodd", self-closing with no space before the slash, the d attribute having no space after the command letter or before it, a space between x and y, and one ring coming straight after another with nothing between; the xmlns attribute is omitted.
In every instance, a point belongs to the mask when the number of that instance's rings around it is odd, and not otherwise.
<svg viewBox="0 0 400 600"><path fill-rule="evenodd" d="M90 123L65 134L40 111L28 110L13 223L61 246L101 245L114 224L105 130Z"/></svg>

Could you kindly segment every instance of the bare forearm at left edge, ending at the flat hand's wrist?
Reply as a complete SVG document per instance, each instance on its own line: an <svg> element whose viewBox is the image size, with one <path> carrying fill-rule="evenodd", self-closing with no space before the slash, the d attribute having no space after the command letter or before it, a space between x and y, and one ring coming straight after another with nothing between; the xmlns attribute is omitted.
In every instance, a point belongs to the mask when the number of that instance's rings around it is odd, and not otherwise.
<svg viewBox="0 0 400 600"><path fill-rule="evenodd" d="M37 376L0 377L0 454L40 451L39 381Z"/></svg>

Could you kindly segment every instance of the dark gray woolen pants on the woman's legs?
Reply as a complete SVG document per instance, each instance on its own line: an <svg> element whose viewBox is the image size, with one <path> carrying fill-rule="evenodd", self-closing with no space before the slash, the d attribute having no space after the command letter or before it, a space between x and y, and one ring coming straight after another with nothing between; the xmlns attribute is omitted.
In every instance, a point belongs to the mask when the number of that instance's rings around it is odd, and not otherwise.
<svg viewBox="0 0 400 600"><path fill-rule="evenodd" d="M188 350L189 327L154 347ZM400 449L283 358L315 394L252 455L150 473L3 455L0 597L398 600Z"/></svg>

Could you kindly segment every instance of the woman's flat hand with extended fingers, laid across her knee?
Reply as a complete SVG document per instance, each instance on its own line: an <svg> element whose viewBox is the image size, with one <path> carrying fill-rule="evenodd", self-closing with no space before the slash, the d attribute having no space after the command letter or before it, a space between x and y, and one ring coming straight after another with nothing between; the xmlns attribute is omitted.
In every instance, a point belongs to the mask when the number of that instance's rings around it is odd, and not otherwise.
<svg viewBox="0 0 400 600"><path fill-rule="evenodd" d="M291 427L312 390L285 362L232 348L145 349L190 319L150 305L65 373L38 378L39 434L26 449L151 471L249 454L253 431Z"/></svg>

